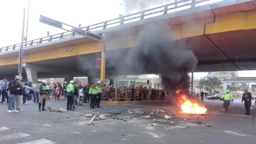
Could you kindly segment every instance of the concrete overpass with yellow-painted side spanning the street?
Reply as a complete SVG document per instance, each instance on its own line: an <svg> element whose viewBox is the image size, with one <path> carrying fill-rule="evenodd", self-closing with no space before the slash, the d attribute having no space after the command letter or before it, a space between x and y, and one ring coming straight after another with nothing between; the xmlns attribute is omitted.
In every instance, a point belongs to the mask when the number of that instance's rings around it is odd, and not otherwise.
<svg viewBox="0 0 256 144"><path fill-rule="evenodd" d="M182 0L185 1L189 0ZM178 46L194 51L199 60L195 72L256 70L255 0L224 0L198 6L206 1L209 0L192 0L182 6L177 6L176 2L86 26L84 30L106 35L106 67L104 65L101 71L114 77L109 64L119 62L123 66L117 75L145 74L128 71L123 60L136 45L138 33L144 26L158 22L167 22L171 26L170 30L176 34L173 40ZM190 8L175 12L182 7ZM17 74L19 48L20 44L0 48L1 77ZM101 56L105 53L100 42L64 32L29 41L24 48L26 64L23 73L32 80L48 76L67 79L75 75L99 77L100 68L95 68L94 60ZM104 61L103 58L102 63ZM101 77L105 78L102 74Z"/></svg>

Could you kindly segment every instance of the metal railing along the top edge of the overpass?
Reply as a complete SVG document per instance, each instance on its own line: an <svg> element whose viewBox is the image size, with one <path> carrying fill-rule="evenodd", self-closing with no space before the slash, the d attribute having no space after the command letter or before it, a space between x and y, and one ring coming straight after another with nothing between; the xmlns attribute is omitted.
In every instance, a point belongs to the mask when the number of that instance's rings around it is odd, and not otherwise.
<svg viewBox="0 0 256 144"><path fill-rule="evenodd" d="M154 16L159 16L159 15L163 15L163 14L176 12L178 10L194 8L198 5L204 5L204 4L206 4L206 2L209 2L209 1L211 1L211 0L177 0L176 2L173 2L171 4L166 4L164 6L158 6L156 8L151 8L151 9L144 10L141 12L136 12L134 14L129 14L126 16L120 15L119 18L115 18L112 20L107 20L105 22L100 22L100 23L93 24L90 26L82 27L82 29L87 30L87 31L102 30L105 28L110 28L113 26L118 26L118 25L129 23L129 22L134 22L134 21L143 20L146 18L151 18ZM74 34L72 32L62 32L60 34L54 34L51 36L46 36L43 38L30 40L30 41L27 41L26 43L24 42L24 47L34 46L34 45L38 45L38 44L42 44L42 43L46 43L46 42L51 42L54 40L68 38L68 37L71 37L74 35L76 35L76 34ZM0 48L0 53L5 52L5 51L12 51L12 50L20 49L20 45L21 45L21 43Z"/></svg>

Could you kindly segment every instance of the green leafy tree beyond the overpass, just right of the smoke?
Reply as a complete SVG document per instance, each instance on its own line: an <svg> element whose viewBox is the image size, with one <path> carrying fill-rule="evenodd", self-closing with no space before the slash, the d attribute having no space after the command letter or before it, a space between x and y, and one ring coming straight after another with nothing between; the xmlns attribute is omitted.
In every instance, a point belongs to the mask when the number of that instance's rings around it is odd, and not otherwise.
<svg viewBox="0 0 256 144"><path fill-rule="evenodd" d="M204 86L208 92L212 92L216 88L219 88L222 85L222 82L216 77L207 77L206 79L202 78L199 81L199 87L202 89Z"/></svg>

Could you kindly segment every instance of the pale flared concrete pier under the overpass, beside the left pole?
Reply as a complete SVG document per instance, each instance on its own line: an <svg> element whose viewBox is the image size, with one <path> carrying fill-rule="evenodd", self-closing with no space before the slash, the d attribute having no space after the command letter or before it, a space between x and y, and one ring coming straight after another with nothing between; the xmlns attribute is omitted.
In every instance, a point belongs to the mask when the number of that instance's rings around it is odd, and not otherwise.
<svg viewBox="0 0 256 144"><path fill-rule="evenodd" d="M37 77L38 70L37 70L37 68L35 68L33 65L26 64L26 63L22 64L22 66L26 70L27 79L31 82L37 82L38 81L38 77Z"/></svg>

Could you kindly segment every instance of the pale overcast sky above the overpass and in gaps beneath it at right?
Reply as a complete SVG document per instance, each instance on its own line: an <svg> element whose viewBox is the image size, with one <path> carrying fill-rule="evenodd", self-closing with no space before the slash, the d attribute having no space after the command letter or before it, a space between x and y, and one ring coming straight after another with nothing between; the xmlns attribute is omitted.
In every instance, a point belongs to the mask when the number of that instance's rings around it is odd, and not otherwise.
<svg viewBox="0 0 256 144"><path fill-rule="evenodd" d="M138 2L138 0L130 1L134 1L135 4ZM216 1L221 0L212 0L212 2ZM40 23L38 20L40 14L70 25L78 26L78 24L81 24L82 26L87 26L117 18L118 14L128 14L127 10L120 3L123 3L123 1L30 0L28 40L47 36L47 31L51 35L64 32L58 28ZM26 8L27 14L28 0L0 0L0 48L21 42L23 8ZM134 10L128 11L129 13L135 12ZM205 75L205 72L194 74L196 77ZM256 71L241 71L239 76L256 76Z"/></svg>

